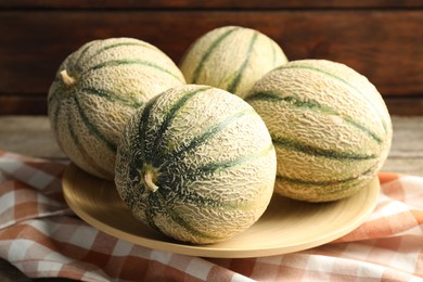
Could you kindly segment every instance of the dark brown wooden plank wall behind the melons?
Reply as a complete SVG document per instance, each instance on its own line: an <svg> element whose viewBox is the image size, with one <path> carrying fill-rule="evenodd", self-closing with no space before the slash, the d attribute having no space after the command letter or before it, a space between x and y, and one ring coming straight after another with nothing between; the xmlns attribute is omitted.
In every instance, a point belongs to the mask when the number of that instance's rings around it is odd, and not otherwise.
<svg viewBox="0 0 423 282"><path fill-rule="evenodd" d="M0 115L46 114L56 68L87 41L134 37L178 63L223 25L262 31L290 60L345 63L392 114L423 115L422 0L0 0Z"/></svg>

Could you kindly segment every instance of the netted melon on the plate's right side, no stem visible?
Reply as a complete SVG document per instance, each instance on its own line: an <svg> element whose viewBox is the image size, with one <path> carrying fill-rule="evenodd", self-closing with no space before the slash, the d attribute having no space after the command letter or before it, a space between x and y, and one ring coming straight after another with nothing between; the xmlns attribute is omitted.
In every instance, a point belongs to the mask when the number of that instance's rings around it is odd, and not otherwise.
<svg viewBox="0 0 423 282"><path fill-rule="evenodd" d="M265 120L278 155L277 193L329 202L363 189L392 143L389 113L376 88L352 68L292 61L245 98Z"/></svg>

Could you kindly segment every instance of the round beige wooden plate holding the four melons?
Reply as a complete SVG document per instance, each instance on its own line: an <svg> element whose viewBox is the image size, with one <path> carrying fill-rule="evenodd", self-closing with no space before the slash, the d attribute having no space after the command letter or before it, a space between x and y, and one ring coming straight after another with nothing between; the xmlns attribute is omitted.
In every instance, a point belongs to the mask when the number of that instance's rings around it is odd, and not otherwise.
<svg viewBox="0 0 423 282"><path fill-rule="evenodd" d="M89 225L138 245L202 257L260 257L322 245L357 228L373 210L380 192L375 178L358 194L333 203L311 204L274 195L261 218L243 233L222 243L184 244L132 217L113 182L70 165L63 178L70 208Z"/></svg>

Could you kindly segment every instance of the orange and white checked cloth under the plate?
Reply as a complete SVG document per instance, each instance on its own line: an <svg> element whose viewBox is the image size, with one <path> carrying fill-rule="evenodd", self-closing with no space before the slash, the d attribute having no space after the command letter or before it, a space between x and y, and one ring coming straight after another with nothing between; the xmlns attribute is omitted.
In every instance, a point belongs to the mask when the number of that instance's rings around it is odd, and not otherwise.
<svg viewBox="0 0 423 282"><path fill-rule="evenodd" d="M82 281L423 281L423 178L380 174L376 209L358 229L311 249L201 258L107 235L63 200L67 162L0 151L0 257L30 278Z"/></svg>

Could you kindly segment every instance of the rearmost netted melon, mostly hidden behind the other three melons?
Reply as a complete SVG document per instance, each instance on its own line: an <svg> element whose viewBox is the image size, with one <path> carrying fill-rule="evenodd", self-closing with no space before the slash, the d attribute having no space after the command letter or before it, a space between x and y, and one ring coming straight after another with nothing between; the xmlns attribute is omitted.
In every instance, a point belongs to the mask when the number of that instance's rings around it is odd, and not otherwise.
<svg viewBox="0 0 423 282"><path fill-rule="evenodd" d="M194 41L179 67L188 84L208 85L244 98L267 72L286 62L281 47L268 36L225 26Z"/></svg>

